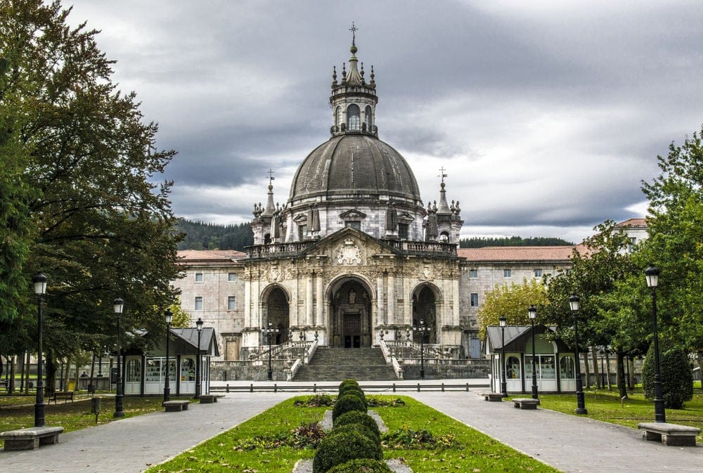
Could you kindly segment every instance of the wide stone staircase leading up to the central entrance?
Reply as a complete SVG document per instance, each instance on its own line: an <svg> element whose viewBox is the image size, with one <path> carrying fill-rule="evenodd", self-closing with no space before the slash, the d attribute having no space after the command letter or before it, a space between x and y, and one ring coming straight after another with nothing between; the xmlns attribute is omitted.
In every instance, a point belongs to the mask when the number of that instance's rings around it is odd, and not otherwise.
<svg viewBox="0 0 703 473"><path fill-rule="evenodd" d="M380 348L318 348L308 365L303 365L293 381L394 381L392 365L387 365Z"/></svg>

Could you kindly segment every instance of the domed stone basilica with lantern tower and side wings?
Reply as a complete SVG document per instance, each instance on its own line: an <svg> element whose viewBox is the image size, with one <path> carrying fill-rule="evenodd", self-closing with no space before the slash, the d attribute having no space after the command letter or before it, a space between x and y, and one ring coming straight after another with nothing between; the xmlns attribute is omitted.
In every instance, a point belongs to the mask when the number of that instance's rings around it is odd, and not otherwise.
<svg viewBox="0 0 703 473"><path fill-rule="evenodd" d="M349 51L333 69L329 137L299 164L285 204L269 179L266 204L254 204L254 245L180 252L186 276L174 285L183 309L217 333L214 363L312 341L404 340L482 358L484 294L569 267L574 246L460 249L461 209L444 171L423 200L413 169L379 138L373 67L364 70L355 41Z"/></svg>

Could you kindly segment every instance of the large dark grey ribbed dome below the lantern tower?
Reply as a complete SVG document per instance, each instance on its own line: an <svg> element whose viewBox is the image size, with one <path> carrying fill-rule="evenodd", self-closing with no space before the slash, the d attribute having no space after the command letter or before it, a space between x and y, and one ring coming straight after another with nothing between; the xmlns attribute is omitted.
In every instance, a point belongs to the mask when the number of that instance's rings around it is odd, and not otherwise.
<svg viewBox="0 0 703 473"><path fill-rule="evenodd" d="M392 146L374 136L344 134L319 145L300 164L289 202L378 200L380 195L421 201L412 169Z"/></svg>

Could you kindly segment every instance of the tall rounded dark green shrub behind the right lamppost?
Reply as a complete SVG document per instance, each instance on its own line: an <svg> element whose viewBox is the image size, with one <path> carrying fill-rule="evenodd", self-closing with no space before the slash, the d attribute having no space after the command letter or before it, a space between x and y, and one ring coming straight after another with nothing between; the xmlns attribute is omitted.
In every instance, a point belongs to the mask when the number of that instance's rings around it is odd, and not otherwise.
<svg viewBox="0 0 703 473"><path fill-rule="evenodd" d="M664 407L681 409L685 401L693 399L693 372L685 350L659 343L659 372L662 381ZM642 387L647 399L654 399L654 344L647 351L642 365Z"/></svg>

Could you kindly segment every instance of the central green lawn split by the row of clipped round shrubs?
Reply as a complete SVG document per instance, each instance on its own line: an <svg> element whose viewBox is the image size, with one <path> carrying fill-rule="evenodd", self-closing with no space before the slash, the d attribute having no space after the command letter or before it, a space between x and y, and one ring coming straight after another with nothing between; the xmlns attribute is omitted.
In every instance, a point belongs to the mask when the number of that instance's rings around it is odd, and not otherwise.
<svg viewBox="0 0 703 473"><path fill-rule="evenodd" d="M313 458L312 448L294 448L291 431L301 425L318 422L330 407L297 407L299 396L283 401L266 412L184 452L173 460L156 465L147 473L290 473L301 458ZM399 396L368 396L368 399L391 401ZM399 407L373 407L396 438L420 438L423 430L432 434L444 448L384 448L386 459L402 458L415 473L439 472L534 472L558 473L527 455L467 427L411 398ZM285 439L288 439L286 441Z"/></svg>

